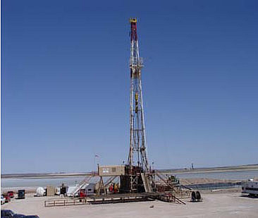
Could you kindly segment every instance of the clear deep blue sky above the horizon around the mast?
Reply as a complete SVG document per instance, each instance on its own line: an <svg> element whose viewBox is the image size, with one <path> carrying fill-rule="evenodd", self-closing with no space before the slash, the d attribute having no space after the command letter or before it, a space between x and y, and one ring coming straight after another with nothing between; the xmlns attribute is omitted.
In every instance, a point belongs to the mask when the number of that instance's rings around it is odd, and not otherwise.
<svg viewBox="0 0 258 218"><path fill-rule="evenodd" d="M258 1L1 1L1 172L90 171L129 149L130 17L149 162L258 162Z"/></svg>

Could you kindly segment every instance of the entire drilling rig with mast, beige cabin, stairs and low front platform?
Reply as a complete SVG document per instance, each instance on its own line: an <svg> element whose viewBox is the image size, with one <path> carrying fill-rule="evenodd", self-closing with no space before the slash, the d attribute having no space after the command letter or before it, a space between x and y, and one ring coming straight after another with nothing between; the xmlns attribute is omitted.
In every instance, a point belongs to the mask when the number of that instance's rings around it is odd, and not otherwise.
<svg viewBox="0 0 258 218"><path fill-rule="evenodd" d="M130 146L128 162L111 166L99 166L98 164L97 174L92 171L91 175L78 184L73 196L77 195L93 176L99 176L97 188L95 187L96 196L91 197L93 203L96 202L95 200L102 203L110 202L109 193L116 193L116 198L120 198L120 200L115 200L116 202L125 202L125 198L128 198L128 201L158 199L185 204L178 197L182 198L185 194L190 196L190 188L181 186L179 181L176 181L175 176L168 177L166 175L167 178L164 178L161 172L151 169L149 166L142 99L142 67L137 36L137 19L130 18ZM120 185L117 185L118 183L113 181L117 181L119 178ZM117 191L112 193L110 188ZM113 197L111 202L114 202Z"/></svg>

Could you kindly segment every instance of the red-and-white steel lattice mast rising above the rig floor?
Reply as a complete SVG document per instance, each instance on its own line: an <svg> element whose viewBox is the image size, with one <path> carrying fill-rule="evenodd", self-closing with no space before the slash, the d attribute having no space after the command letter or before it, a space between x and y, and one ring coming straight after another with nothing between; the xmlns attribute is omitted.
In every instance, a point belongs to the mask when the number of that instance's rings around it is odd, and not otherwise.
<svg viewBox="0 0 258 218"><path fill-rule="evenodd" d="M137 166L149 171L146 150L145 117L142 100L142 58L139 56L137 40L137 19L130 19L130 151L128 165L130 170ZM131 181L133 183L133 181Z"/></svg>

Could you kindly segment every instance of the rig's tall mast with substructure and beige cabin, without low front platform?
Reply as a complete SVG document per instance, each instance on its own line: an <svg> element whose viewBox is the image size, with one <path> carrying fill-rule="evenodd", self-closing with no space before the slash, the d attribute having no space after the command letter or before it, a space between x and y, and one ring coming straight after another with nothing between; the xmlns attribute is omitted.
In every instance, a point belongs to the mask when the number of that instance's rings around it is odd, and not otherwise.
<svg viewBox="0 0 258 218"><path fill-rule="evenodd" d="M100 180L97 193L106 193L106 187L118 177L120 178L119 193L151 193L153 190L154 171L151 172L149 169L146 149L142 66L137 39L137 19L130 18L130 149L128 162L122 166L98 166L97 175ZM104 182L103 177L110 177L110 179ZM82 181L81 186L86 182Z"/></svg>

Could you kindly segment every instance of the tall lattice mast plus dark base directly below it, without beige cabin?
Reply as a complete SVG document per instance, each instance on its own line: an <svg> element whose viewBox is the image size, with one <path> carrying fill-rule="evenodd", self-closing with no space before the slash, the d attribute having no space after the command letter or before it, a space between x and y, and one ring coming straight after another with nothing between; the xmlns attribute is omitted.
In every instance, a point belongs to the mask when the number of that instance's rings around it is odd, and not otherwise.
<svg viewBox="0 0 258 218"><path fill-rule="evenodd" d="M142 58L139 55L137 19L130 18L130 150L121 188L125 192L145 192L149 179L145 117L142 100ZM125 178L126 177L126 178Z"/></svg>

